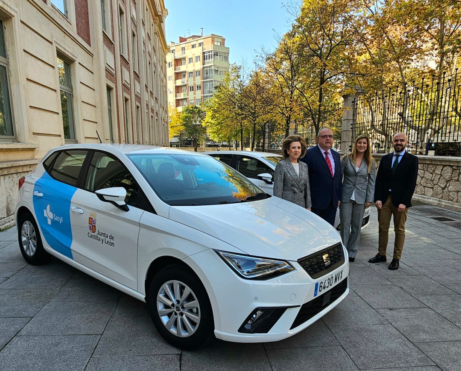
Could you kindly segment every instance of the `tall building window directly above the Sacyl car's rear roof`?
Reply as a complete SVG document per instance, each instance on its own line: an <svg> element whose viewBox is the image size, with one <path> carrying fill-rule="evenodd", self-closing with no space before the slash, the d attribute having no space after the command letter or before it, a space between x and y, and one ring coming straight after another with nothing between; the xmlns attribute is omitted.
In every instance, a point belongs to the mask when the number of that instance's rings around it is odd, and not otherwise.
<svg viewBox="0 0 461 371"><path fill-rule="evenodd" d="M62 60L59 55L57 60L64 138L70 141L75 141L74 110L72 106L71 66Z"/></svg>

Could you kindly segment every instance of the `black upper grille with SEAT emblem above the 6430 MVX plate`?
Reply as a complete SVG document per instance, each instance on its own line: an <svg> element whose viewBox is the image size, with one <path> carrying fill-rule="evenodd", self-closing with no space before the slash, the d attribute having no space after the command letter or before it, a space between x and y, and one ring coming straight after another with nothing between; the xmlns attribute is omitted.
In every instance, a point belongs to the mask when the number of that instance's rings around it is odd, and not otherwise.
<svg viewBox="0 0 461 371"><path fill-rule="evenodd" d="M325 261L323 259L325 254L328 254L328 258L330 259L330 264L327 266L325 266ZM319 278L334 271L336 268L343 265L344 261L344 250L341 242L334 246L327 247L318 253L313 253L312 255L298 259L299 265L301 265L312 278Z"/></svg>

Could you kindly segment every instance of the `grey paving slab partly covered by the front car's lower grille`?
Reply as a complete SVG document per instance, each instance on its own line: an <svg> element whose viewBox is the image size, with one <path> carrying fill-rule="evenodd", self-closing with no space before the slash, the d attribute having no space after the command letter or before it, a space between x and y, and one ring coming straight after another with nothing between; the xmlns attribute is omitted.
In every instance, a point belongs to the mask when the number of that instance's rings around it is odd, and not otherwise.
<svg viewBox="0 0 461 371"><path fill-rule="evenodd" d="M263 344L266 349L300 348L300 347L328 347L339 345L336 337L319 319L307 329L302 330L288 339L279 342L266 342Z"/></svg>

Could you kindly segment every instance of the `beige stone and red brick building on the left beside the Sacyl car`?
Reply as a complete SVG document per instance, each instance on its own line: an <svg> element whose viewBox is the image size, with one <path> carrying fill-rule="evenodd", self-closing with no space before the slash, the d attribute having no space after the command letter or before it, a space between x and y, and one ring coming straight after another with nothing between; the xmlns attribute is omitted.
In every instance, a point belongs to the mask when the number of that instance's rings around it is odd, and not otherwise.
<svg viewBox="0 0 461 371"><path fill-rule="evenodd" d="M0 0L0 228L50 148L168 145L167 14L164 0Z"/></svg>

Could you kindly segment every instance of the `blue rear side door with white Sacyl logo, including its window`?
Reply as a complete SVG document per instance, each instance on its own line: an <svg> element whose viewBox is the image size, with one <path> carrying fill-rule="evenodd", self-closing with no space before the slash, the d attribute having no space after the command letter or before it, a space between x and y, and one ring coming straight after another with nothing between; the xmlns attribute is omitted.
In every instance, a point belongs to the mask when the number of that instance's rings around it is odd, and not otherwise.
<svg viewBox="0 0 461 371"><path fill-rule="evenodd" d="M66 149L54 156L35 181L32 203L45 247L74 259L71 200L88 150ZM45 161L46 163L47 161Z"/></svg>

